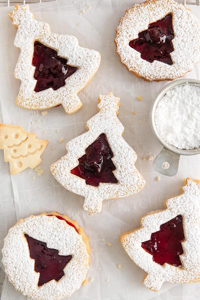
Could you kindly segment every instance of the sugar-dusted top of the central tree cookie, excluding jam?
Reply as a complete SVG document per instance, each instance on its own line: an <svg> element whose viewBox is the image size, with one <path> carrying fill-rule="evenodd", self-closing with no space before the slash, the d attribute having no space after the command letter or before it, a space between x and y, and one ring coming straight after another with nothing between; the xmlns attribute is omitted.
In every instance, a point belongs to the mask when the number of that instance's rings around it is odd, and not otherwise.
<svg viewBox="0 0 200 300"><path fill-rule="evenodd" d="M50 170L56 180L67 190L85 198L83 208L89 214L100 212L104 199L116 199L137 193L145 185L145 180L135 167L137 155L122 137L123 125L117 118L120 99L112 93L100 95L100 110L88 120L88 132L67 143L67 155L52 164ZM113 171L117 184L100 183L98 187L87 185L85 180L70 173L78 164L78 159L85 154L85 149L100 136L106 134L109 146L114 154Z"/></svg>

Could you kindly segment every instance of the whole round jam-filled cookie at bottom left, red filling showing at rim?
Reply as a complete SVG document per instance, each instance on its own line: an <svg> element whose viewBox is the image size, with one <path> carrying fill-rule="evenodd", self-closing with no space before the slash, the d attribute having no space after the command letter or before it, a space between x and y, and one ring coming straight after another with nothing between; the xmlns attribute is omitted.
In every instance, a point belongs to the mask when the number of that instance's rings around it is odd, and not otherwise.
<svg viewBox="0 0 200 300"><path fill-rule="evenodd" d="M19 220L2 249L5 273L17 290L34 300L69 297L86 280L89 239L66 215L52 212Z"/></svg>

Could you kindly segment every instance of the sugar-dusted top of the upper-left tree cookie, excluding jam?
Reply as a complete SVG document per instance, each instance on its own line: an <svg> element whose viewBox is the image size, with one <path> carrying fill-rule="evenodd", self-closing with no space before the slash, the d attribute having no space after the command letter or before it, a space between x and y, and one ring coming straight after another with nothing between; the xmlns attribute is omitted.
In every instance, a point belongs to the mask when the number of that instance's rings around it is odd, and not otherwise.
<svg viewBox="0 0 200 300"><path fill-rule="evenodd" d="M18 27L14 45L20 49L15 68L15 77L21 80L16 103L26 109L42 110L62 104L66 113L75 113L82 106L77 96L92 79L100 65L100 53L80 47L78 40L72 35L57 35L50 32L47 23L33 19L28 5L16 5L10 13L13 25ZM34 79L35 67L32 66L34 41L55 49L59 56L67 58L67 64L78 67L68 77L66 84L53 90L48 88L36 93L37 81Z"/></svg>

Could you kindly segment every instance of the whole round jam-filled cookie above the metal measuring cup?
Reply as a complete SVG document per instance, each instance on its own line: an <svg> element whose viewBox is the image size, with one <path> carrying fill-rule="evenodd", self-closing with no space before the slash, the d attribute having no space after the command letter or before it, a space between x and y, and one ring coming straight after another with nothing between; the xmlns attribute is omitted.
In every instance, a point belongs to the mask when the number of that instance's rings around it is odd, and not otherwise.
<svg viewBox="0 0 200 300"><path fill-rule="evenodd" d="M149 0L126 10L116 29L116 52L135 76L173 80L200 57L198 19L173 0Z"/></svg>

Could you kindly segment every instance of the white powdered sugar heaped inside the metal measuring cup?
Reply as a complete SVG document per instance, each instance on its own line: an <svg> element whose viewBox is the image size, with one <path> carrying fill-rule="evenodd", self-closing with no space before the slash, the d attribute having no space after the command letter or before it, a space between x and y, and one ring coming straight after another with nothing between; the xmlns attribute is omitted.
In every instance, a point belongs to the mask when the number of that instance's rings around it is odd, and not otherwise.
<svg viewBox="0 0 200 300"><path fill-rule="evenodd" d="M157 105L155 123L160 137L179 149L200 146L200 87L180 85Z"/></svg>

